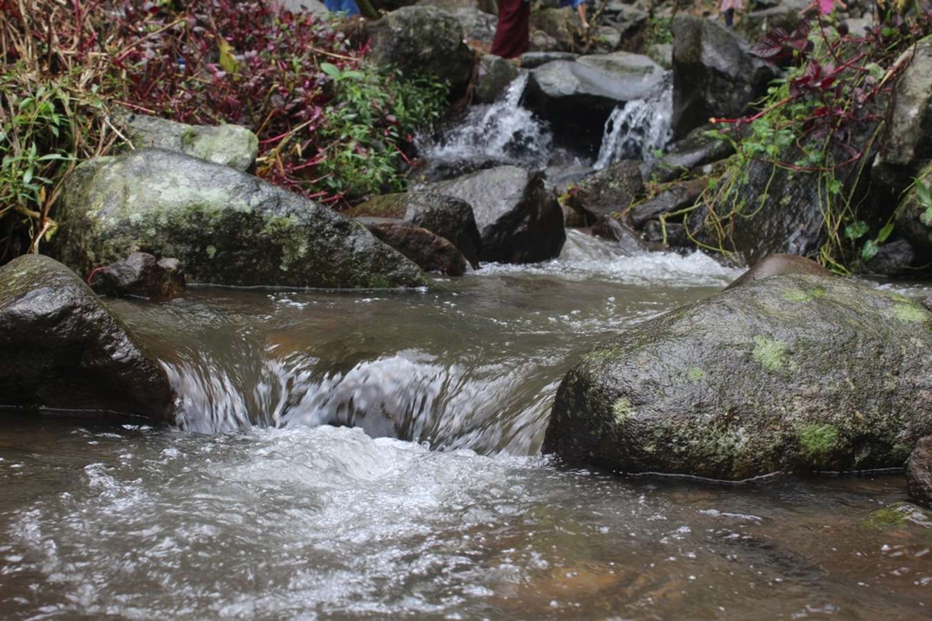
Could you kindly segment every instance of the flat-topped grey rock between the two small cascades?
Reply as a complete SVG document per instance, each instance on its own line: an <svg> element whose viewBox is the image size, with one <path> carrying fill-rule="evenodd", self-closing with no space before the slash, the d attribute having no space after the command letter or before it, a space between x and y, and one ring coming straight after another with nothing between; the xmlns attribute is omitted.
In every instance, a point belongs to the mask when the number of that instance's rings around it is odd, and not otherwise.
<svg viewBox="0 0 932 621"><path fill-rule="evenodd" d="M550 123L557 142L595 156L612 110L648 97L664 82L660 65L636 54L625 56L627 63L622 56L588 64L582 58L548 62L531 71L525 104ZM646 67L654 71L645 73Z"/></svg>

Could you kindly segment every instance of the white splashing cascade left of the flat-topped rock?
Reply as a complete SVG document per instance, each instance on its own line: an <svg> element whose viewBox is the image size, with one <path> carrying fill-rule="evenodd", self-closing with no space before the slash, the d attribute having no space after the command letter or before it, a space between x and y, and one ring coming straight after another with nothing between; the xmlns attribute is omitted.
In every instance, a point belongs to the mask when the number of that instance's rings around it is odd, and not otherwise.
<svg viewBox="0 0 932 621"><path fill-rule="evenodd" d="M539 168L551 156L553 136L546 125L521 107L528 74L514 79L498 101L473 106L457 128L436 142L418 140L418 151L432 166L487 162Z"/></svg>

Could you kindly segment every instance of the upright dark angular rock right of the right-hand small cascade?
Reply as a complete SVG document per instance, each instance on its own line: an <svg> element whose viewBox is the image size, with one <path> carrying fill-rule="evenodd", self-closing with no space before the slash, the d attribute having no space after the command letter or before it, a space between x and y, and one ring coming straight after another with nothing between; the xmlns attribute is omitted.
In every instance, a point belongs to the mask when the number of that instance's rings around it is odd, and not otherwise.
<svg viewBox="0 0 932 621"><path fill-rule="evenodd" d="M679 15L673 21L673 131L682 137L709 117L742 115L777 72L724 25Z"/></svg>

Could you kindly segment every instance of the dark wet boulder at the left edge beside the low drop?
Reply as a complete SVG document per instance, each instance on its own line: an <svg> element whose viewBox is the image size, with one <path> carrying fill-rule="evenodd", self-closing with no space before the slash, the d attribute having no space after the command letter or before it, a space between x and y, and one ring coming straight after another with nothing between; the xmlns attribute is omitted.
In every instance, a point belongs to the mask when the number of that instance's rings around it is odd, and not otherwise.
<svg viewBox="0 0 932 621"><path fill-rule="evenodd" d="M28 254L0 267L0 406L173 422L165 370L67 267Z"/></svg>

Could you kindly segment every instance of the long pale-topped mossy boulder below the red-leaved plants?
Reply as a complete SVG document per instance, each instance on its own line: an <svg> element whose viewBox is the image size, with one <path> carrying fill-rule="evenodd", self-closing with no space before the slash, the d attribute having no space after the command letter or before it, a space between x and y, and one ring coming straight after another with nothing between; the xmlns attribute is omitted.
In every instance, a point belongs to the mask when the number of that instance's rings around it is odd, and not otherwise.
<svg viewBox="0 0 932 621"><path fill-rule="evenodd" d="M363 225L239 170L144 149L75 169L56 236L80 274L133 252L173 257L193 282L415 287L418 266Z"/></svg>

